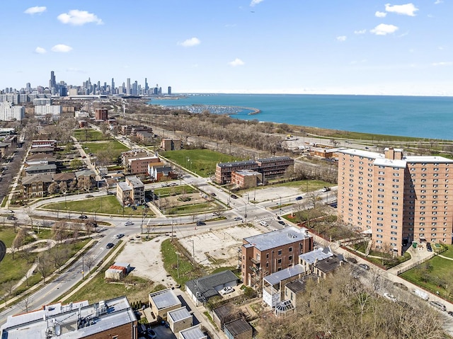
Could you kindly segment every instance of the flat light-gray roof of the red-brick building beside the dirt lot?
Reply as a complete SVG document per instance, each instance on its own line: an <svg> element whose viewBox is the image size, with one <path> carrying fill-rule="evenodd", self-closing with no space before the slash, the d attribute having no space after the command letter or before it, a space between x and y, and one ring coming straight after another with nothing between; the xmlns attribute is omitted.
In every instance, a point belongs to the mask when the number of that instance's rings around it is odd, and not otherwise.
<svg viewBox="0 0 453 339"><path fill-rule="evenodd" d="M289 243L302 241L309 237L307 229L304 227L299 229L294 226L287 226L284 229L278 229L276 231L258 234L256 236L249 236L243 240L258 248L259 251L266 251L270 248L277 248L285 246Z"/></svg>

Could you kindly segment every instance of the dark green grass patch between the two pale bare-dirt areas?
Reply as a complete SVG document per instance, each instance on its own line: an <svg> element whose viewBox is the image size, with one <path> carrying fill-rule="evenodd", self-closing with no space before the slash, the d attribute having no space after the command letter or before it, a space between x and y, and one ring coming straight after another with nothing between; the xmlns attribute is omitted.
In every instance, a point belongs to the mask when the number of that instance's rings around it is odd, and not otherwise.
<svg viewBox="0 0 453 339"><path fill-rule="evenodd" d="M176 246L177 239L167 239L162 242L161 253L162 259L164 260L164 268L173 279L181 285L182 288L185 286L185 282L200 277L202 274L200 270L193 267L193 264L185 258L184 255L179 255L179 278L178 278L178 246Z"/></svg>

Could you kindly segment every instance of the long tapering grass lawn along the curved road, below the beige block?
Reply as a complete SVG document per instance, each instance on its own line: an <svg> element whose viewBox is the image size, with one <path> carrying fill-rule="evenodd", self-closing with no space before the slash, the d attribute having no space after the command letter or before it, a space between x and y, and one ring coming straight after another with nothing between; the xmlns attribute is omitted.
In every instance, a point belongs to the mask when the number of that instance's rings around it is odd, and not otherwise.
<svg viewBox="0 0 453 339"><path fill-rule="evenodd" d="M80 212L80 213L102 213L102 214L122 214L122 207L120 202L117 200L115 195L106 195L105 197L93 197L85 200L76 200L68 202L55 202L52 204L44 205L42 208L45 209L59 209L64 211L65 204L71 212ZM143 215L143 207L137 207L137 209L132 209L132 207L125 207L125 215ZM148 215L151 215L152 212L150 209L147 210ZM74 215L74 218L78 217Z"/></svg>

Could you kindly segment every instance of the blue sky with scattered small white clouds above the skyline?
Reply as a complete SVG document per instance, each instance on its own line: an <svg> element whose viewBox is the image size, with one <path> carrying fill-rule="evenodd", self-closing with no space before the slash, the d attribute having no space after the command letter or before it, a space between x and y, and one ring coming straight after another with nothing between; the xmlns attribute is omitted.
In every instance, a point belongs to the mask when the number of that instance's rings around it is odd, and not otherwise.
<svg viewBox="0 0 453 339"><path fill-rule="evenodd" d="M452 2L2 1L0 88L453 96Z"/></svg>

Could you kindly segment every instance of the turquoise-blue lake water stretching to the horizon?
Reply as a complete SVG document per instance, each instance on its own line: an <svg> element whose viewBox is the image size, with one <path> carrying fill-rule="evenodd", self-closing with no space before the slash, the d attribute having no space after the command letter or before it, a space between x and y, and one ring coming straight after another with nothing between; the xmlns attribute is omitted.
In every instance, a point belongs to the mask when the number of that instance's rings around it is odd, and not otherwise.
<svg viewBox="0 0 453 339"><path fill-rule="evenodd" d="M257 108L260 113L249 115L250 110L242 110L231 117L331 130L453 139L450 130L453 97L201 94L178 100L152 99L151 104L189 110L197 104L241 106Z"/></svg>

